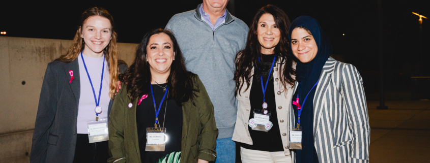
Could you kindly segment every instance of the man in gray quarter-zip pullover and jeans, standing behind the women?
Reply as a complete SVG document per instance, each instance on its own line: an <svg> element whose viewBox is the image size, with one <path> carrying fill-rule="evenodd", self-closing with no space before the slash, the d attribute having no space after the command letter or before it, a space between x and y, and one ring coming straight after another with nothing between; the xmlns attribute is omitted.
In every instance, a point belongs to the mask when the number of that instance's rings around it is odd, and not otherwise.
<svg viewBox="0 0 430 163"><path fill-rule="evenodd" d="M174 32L188 71L197 74L214 105L219 130L215 162L235 162L235 56L245 48L248 26L225 9L228 0L203 0L195 10L174 15Z"/></svg>

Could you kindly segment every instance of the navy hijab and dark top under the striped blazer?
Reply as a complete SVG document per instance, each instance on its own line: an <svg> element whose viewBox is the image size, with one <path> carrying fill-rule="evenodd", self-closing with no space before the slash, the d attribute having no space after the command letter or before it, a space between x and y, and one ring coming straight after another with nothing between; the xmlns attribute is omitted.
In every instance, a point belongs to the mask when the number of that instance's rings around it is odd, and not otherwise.
<svg viewBox="0 0 430 163"><path fill-rule="evenodd" d="M310 62L302 63L297 59L296 80L299 84L296 92L298 93L300 104L303 105L303 110L300 116L300 126L302 126L302 150L297 150L296 157L298 163L318 162L318 156L313 145L313 97L317 86L313 89L312 87L320 78L324 64L332 53L332 46L317 20L310 16L300 16L295 19L290 26L290 47L291 33L296 27L305 27L309 29L318 46L317 55ZM305 104L303 104L303 100L308 92L309 95L307 96Z"/></svg>

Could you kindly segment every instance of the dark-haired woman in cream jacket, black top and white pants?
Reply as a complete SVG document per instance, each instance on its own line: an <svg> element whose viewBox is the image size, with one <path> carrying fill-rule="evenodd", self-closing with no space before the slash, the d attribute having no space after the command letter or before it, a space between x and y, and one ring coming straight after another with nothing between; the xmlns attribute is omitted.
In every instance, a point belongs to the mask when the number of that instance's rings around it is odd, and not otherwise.
<svg viewBox="0 0 430 163"><path fill-rule="evenodd" d="M257 11L244 50L236 57L237 121L233 141L242 162L291 162L289 110L294 61L288 43L290 20L267 5ZM270 83L270 84L269 84Z"/></svg>

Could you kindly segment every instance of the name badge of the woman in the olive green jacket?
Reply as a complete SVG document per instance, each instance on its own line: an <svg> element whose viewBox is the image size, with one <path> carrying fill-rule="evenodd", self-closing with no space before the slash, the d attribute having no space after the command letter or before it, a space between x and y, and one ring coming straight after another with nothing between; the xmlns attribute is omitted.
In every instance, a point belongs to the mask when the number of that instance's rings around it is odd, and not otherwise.
<svg viewBox="0 0 430 163"><path fill-rule="evenodd" d="M167 141L166 128L148 127L145 151L162 152L166 148Z"/></svg>

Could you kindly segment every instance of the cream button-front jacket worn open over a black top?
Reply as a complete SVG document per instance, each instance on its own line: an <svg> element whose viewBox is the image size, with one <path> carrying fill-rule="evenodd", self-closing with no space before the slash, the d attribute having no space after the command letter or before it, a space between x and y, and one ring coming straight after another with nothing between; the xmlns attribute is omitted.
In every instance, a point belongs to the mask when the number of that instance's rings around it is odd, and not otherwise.
<svg viewBox="0 0 430 163"><path fill-rule="evenodd" d="M282 138L282 145L284 147L284 153L285 155L290 155L289 150L289 126L291 126L290 123L290 109L291 108L291 98L293 96L293 87L289 84L287 86L287 90L284 90L283 84L280 82L279 73L281 70L283 70L284 64L281 63L281 59L278 58L278 61L276 65L273 68L273 85L275 88L275 102L276 102L276 113L278 118L278 124L280 129L280 136ZM295 69L296 64L293 64L293 68ZM250 86L252 85L252 76L254 73L254 69L251 70L251 79L250 79ZM293 76L293 79L295 76ZM249 93L251 89L247 89L246 83L243 85L242 89L239 90L240 94L238 92L237 100L238 100L238 112L237 112L237 119L236 119L236 125L235 125L235 132L233 133L233 141L246 143L249 145L252 145L252 139L251 136L249 136L248 131L248 121L249 121L249 114L251 110L251 104L249 102ZM268 92L269 93L269 92ZM294 117L294 115L293 115ZM275 123L275 122L272 122Z"/></svg>

